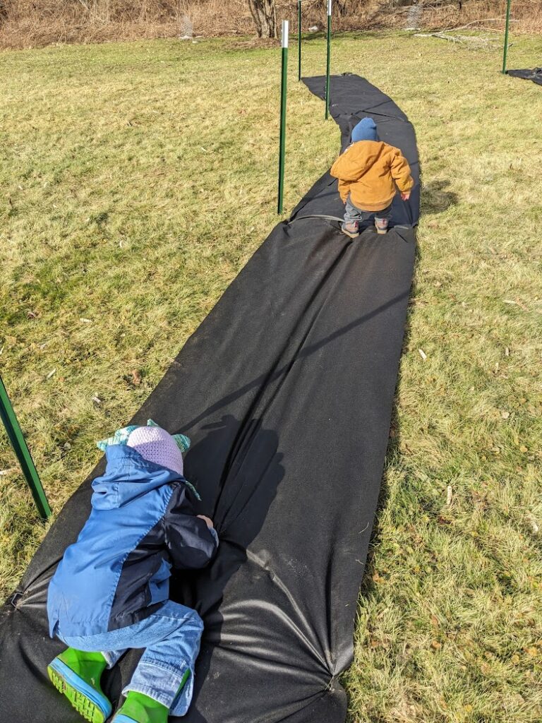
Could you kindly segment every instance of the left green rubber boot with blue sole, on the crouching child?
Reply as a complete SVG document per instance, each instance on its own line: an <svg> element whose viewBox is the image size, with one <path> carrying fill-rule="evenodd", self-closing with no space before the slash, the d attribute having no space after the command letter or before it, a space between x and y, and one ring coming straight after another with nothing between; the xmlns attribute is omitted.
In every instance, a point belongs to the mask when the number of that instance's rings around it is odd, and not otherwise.
<svg viewBox="0 0 542 723"><path fill-rule="evenodd" d="M101 653L68 648L47 666L56 690L90 723L104 723L111 715L111 703L100 688L100 677L107 667Z"/></svg>

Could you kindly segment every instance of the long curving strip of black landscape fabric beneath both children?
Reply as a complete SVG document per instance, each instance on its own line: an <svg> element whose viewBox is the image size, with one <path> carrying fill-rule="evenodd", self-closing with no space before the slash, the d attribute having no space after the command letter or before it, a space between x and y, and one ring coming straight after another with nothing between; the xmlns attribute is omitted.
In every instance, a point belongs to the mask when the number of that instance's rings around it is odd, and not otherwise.
<svg viewBox="0 0 542 723"><path fill-rule="evenodd" d="M306 84L322 96L323 78ZM373 116L418 180L413 127L390 98L361 77L333 77L331 110L343 146L356 119ZM205 621L187 723L345 720L337 676L353 655L413 273L418 189L408 204L395 205L387 236L369 228L352 240L334 221L302 218L340 215L336 181L323 176L293 223L279 223L259 247L132 420L152 418L192 438L186 476L220 534L212 565L177 579L171 591ZM46 594L101 471L103 462L67 502L2 609L0 723L80 721L46 678L64 647L48 638ZM139 653L106 672L114 705Z"/></svg>

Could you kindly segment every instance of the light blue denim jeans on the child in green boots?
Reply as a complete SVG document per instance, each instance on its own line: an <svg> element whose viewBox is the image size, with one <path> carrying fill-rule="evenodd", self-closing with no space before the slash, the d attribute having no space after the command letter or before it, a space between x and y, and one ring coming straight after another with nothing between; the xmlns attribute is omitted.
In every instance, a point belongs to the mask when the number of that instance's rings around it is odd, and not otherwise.
<svg viewBox="0 0 542 723"><path fill-rule="evenodd" d="M157 612L126 628L66 638L61 630L56 630L56 635L71 648L101 652L110 668L127 649L145 648L122 693L126 696L129 690L137 690L162 703L171 715L184 716L192 700L194 664L202 632L202 619L195 610L168 600ZM178 690L187 670L189 679Z"/></svg>

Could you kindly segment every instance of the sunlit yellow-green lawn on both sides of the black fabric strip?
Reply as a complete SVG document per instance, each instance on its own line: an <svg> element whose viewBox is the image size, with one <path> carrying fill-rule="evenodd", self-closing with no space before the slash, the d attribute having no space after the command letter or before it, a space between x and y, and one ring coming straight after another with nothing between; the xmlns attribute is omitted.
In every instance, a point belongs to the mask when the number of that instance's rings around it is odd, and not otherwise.
<svg viewBox="0 0 542 723"><path fill-rule="evenodd" d="M514 41L510 67L540 64L539 39ZM277 221L279 55L0 54L0 369L56 512ZM322 73L321 38L304 63ZM339 145L294 66L285 208ZM542 719L542 88L499 67L435 38L335 40L332 71L413 121L423 174L350 723ZM7 595L44 529L0 445Z"/></svg>

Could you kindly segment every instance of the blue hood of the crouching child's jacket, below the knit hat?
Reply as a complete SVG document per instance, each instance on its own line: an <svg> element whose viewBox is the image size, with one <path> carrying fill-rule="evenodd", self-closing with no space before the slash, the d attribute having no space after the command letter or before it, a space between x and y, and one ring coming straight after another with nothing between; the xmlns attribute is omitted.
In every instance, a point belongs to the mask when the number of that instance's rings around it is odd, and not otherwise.
<svg viewBox="0 0 542 723"><path fill-rule="evenodd" d="M95 510L122 507L151 489L184 479L171 469L147 461L127 445L111 445L106 449L106 459L106 474L93 482L91 503Z"/></svg>

